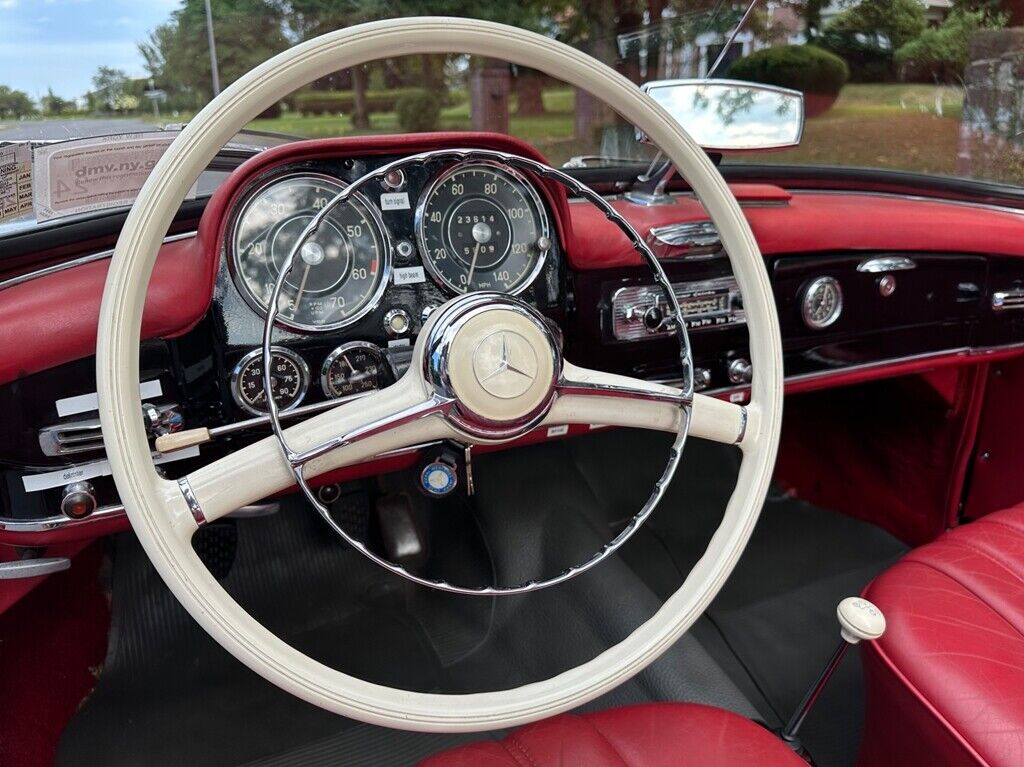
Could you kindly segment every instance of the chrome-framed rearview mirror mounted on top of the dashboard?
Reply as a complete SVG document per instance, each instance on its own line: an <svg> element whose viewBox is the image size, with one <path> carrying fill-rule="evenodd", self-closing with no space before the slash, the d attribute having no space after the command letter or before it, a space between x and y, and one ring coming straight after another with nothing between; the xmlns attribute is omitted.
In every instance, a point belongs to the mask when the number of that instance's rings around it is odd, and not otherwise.
<svg viewBox="0 0 1024 767"><path fill-rule="evenodd" d="M799 145L804 132L797 90L738 80L657 80L642 90L709 152L784 150Z"/></svg>

